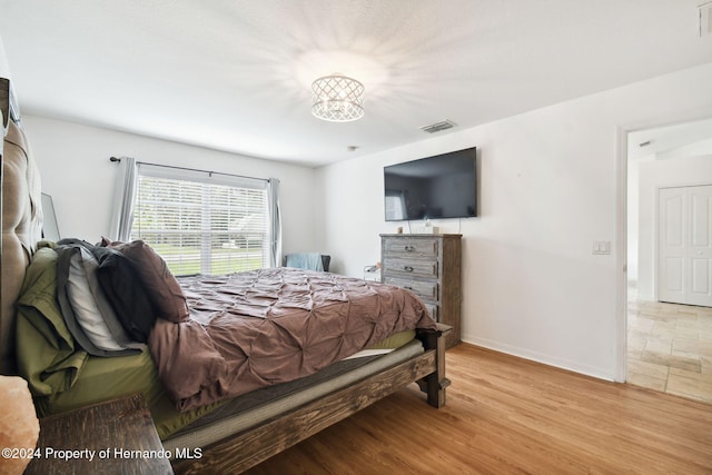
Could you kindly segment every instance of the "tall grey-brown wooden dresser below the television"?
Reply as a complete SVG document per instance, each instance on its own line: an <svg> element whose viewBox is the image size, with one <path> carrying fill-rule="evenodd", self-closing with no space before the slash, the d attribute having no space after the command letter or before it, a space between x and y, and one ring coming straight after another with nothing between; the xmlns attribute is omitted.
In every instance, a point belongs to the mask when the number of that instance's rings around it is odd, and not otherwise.
<svg viewBox="0 0 712 475"><path fill-rule="evenodd" d="M459 343L462 235L380 235L380 280L407 288L433 318L449 325L447 348Z"/></svg>

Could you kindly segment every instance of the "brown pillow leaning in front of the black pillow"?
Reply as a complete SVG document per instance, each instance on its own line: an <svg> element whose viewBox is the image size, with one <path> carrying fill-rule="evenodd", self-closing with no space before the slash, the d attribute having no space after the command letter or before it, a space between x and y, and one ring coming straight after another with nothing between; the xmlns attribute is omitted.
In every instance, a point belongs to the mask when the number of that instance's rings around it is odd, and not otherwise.
<svg viewBox="0 0 712 475"><path fill-rule="evenodd" d="M107 239L102 240L107 244ZM157 316L174 323L186 321L190 316L186 296L170 273L166 261L146 243L110 243L108 247L125 255L134 264L148 290L148 298Z"/></svg>

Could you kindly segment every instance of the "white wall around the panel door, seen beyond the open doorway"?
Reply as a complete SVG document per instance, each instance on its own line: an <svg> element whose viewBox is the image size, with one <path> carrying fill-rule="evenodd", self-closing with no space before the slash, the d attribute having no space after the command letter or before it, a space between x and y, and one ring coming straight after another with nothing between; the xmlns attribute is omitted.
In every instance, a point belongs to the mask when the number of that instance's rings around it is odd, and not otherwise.
<svg viewBox="0 0 712 475"><path fill-rule="evenodd" d="M655 300L657 191L664 187L712 185L712 155L639 164L637 298Z"/></svg>

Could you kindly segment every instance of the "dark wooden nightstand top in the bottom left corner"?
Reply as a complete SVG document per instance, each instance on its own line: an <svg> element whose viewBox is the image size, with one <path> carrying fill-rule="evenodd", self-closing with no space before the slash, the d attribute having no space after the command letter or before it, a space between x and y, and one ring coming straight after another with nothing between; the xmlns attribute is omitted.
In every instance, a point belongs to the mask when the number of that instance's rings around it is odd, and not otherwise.
<svg viewBox="0 0 712 475"><path fill-rule="evenodd" d="M26 474L172 474L140 394L40 419Z"/></svg>

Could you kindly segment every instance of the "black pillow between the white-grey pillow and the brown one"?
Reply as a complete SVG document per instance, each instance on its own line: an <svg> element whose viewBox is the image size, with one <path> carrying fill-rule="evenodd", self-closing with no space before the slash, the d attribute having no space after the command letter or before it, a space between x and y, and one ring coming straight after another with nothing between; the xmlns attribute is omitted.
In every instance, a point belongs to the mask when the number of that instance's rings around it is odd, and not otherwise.
<svg viewBox="0 0 712 475"><path fill-rule="evenodd" d="M99 261L97 278L119 321L131 338L148 342L156 314L134 265L116 249L95 247L91 251Z"/></svg>

